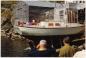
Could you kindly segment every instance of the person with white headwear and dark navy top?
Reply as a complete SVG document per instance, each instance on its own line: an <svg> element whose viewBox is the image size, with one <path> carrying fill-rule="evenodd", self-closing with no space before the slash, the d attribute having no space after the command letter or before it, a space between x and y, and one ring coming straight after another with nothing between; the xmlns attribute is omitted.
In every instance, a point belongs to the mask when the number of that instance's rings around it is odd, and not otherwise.
<svg viewBox="0 0 86 58"><path fill-rule="evenodd" d="M53 49L47 48L47 41L46 40L40 40L39 44L36 47L36 50L31 51L31 53L28 54L29 57L51 57L55 56Z"/></svg>

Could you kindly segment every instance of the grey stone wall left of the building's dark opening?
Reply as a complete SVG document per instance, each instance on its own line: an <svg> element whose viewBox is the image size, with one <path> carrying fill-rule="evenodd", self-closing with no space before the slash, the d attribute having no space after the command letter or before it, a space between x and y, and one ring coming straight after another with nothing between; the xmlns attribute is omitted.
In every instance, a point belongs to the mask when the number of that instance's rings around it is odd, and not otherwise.
<svg viewBox="0 0 86 58"><path fill-rule="evenodd" d="M29 19L29 6L25 2L19 1L13 9L15 19Z"/></svg>

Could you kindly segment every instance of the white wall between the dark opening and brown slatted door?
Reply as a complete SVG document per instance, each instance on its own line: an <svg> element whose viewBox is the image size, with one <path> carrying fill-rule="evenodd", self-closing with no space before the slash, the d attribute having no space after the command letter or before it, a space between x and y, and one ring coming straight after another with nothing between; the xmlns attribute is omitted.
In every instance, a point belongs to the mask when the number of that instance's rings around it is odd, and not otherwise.
<svg viewBox="0 0 86 58"><path fill-rule="evenodd" d="M58 22L67 22L67 14L66 12L67 5L65 4L56 4L56 7L54 8L54 20ZM63 19L60 18L60 11L63 10Z"/></svg>

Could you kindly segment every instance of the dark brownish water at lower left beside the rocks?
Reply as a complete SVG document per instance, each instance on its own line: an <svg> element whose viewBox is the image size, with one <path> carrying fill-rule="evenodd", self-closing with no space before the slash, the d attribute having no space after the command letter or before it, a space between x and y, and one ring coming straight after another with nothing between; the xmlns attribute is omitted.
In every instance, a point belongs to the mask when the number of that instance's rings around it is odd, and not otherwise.
<svg viewBox="0 0 86 58"><path fill-rule="evenodd" d="M2 37L1 39L1 55L2 56L23 56L23 50L28 46L25 40L10 40Z"/></svg>

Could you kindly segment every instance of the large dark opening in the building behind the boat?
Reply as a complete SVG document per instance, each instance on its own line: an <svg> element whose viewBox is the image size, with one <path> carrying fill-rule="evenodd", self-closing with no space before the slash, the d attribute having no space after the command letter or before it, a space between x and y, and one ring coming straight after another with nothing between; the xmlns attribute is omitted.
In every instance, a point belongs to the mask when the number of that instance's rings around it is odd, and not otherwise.
<svg viewBox="0 0 86 58"><path fill-rule="evenodd" d="M52 14L48 14L46 16L45 12L46 11L50 11L53 10L53 8L49 8L49 7L38 7L38 6L29 6L29 20L40 20L40 21L44 21L45 19L53 19L53 15ZM52 11L53 12L53 11Z"/></svg>

